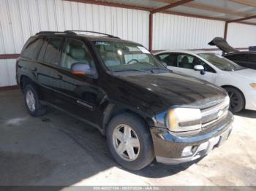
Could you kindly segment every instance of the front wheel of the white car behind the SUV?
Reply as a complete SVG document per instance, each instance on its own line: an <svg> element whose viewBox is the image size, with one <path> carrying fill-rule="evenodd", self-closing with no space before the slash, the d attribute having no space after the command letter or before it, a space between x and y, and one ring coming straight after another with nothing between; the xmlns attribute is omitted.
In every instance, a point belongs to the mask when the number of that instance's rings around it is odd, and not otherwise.
<svg viewBox="0 0 256 191"><path fill-rule="evenodd" d="M225 87L228 95L230 96L230 112L238 113L244 109L245 100L244 95L240 90L234 87Z"/></svg>

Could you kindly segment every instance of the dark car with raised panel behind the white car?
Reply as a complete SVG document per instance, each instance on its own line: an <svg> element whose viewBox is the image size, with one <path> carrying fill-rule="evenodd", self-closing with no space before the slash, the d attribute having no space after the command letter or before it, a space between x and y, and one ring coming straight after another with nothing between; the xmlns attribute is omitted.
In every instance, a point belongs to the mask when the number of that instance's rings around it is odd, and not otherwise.
<svg viewBox="0 0 256 191"><path fill-rule="evenodd" d="M256 69L256 51L238 51L230 46L227 41L221 37L214 38L209 45L215 45L219 47L225 54L225 58L237 63L248 69Z"/></svg>

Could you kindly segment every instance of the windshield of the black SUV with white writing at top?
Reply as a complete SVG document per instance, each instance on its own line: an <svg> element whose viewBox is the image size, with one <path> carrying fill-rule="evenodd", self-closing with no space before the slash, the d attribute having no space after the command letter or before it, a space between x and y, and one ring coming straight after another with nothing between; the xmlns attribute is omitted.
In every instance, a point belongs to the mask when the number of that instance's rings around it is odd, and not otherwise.
<svg viewBox="0 0 256 191"><path fill-rule="evenodd" d="M145 47L138 44L95 41L94 46L110 71L168 71Z"/></svg>

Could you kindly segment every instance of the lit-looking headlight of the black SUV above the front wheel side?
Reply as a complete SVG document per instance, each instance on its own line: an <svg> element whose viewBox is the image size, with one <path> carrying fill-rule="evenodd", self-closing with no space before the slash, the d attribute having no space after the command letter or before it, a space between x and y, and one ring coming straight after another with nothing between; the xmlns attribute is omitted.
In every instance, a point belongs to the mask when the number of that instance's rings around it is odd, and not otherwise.
<svg viewBox="0 0 256 191"><path fill-rule="evenodd" d="M200 109L174 108L168 112L168 128L173 132L198 130L202 127Z"/></svg>

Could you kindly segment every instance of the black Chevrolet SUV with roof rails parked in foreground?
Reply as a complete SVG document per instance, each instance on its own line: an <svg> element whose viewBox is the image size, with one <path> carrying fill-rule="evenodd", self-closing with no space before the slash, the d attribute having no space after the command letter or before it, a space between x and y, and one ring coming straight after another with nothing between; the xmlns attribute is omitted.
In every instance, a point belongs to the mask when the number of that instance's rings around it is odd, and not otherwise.
<svg viewBox="0 0 256 191"><path fill-rule="evenodd" d="M23 47L16 77L29 114L78 117L132 170L195 160L230 135L225 90L173 73L141 44L76 32L39 32Z"/></svg>

